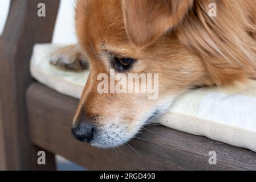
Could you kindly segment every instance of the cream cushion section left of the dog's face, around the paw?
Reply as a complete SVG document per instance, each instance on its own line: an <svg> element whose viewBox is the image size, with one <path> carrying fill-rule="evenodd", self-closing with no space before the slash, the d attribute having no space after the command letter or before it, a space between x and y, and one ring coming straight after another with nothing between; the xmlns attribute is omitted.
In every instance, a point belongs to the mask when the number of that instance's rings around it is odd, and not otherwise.
<svg viewBox="0 0 256 182"><path fill-rule="evenodd" d="M35 80L57 92L80 98L89 72L74 72L52 66L49 62L50 56L59 47L57 44L35 45L30 61L30 73Z"/></svg>

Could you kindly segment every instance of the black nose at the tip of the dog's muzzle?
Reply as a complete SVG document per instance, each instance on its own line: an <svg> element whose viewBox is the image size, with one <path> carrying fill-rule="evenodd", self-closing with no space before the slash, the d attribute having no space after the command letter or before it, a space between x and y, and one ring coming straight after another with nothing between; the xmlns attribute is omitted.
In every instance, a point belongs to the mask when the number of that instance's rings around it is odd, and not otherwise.
<svg viewBox="0 0 256 182"><path fill-rule="evenodd" d="M94 135L94 125L89 122L81 122L72 127L72 134L75 139L78 139L81 142L90 143Z"/></svg>

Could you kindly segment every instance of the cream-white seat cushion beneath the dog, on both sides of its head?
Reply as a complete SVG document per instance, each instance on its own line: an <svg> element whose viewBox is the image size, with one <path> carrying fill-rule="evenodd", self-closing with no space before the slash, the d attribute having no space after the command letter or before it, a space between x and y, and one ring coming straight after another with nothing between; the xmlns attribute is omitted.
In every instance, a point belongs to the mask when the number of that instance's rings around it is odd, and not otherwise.
<svg viewBox="0 0 256 182"><path fill-rule="evenodd" d="M31 75L57 92L80 98L89 72L67 71L50 65L50 55L58 47L35 45ZM256 81L189 90L156 122L256 152Z"/></svg>

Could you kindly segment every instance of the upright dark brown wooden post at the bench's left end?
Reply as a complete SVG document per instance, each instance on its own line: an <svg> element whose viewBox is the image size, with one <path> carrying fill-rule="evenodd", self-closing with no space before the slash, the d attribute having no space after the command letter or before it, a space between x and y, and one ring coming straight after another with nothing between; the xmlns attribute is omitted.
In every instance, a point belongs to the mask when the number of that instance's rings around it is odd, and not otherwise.
<svg viewBox="0 0 256 182"><path fill-rule="evenodd" d="M38 16L38 4L46 16ZM51 42L59 0L12 0L0 37L0 169L29 169L31 143L25 93L35 43Z"/></svg>

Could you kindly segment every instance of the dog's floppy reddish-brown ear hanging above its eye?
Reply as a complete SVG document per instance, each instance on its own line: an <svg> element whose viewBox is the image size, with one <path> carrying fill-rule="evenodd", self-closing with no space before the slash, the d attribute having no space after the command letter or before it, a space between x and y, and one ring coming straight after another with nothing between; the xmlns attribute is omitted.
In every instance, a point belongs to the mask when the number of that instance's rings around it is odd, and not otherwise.
<svg viewBox="0 0 256 182"><path fill-rule="evenodd" d="M154 43L181 22L193 0L123 0L124 24L137 47Z"/></svg>

